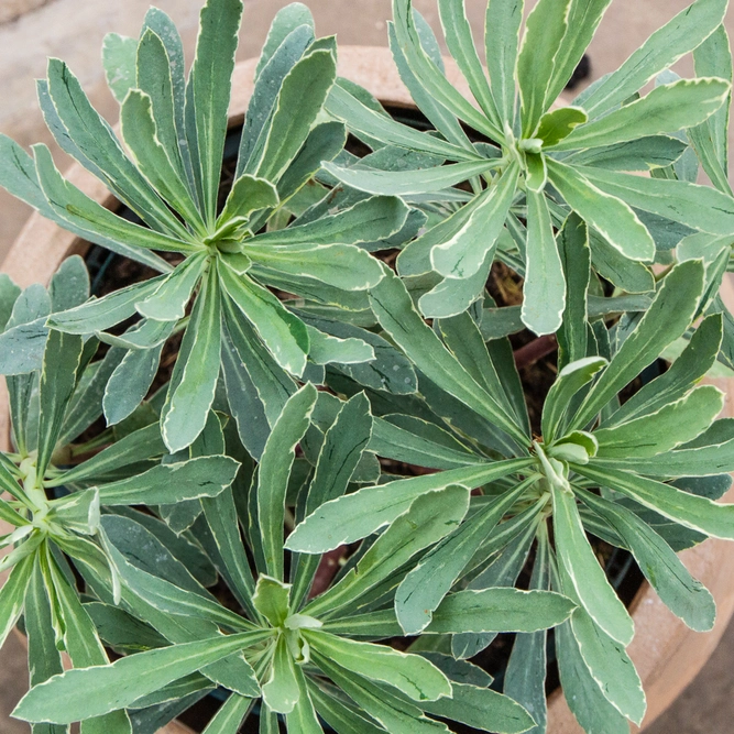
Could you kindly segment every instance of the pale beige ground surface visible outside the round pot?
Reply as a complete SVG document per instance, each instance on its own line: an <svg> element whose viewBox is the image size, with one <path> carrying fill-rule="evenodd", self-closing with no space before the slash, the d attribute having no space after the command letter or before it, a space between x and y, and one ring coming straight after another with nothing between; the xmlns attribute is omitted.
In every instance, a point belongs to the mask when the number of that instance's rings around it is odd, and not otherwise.
<svg viewBox="0 0 734 734"><path fill-rule="evenodd" d="M116 121L118 108L107 91L99 52L109 31L136 35L152 0L0 0L0 132L20 143L51 144L35 102L33 79L45 76L47 56L66 61L97 108ZM245 21L240 58L255 56L275 12L287 0L244 0ZM592 78L614 70L655 29L691 0L614 0L590 56ZM314 11L318 33L338 33L342 44L385 45L390 0L305 0ZM199 0L156 0L179 25L189 54L196 36ZM526 2L529 7L534 0ZM436 23L434 0L415 6ZM479 32L485 0L467 0ZM727 17L734 33L734 8ZM690 62L679 72L690 73ZM58 154L58 149L54 146ZM63 167L63 157L57 160ZM0 191L1 261L30 211ZM13 636L0 650L0 734L28 734L29 727L9 719L26 686L24 651ZM734 734L734 625L708 666L649 734Z"/></svg>

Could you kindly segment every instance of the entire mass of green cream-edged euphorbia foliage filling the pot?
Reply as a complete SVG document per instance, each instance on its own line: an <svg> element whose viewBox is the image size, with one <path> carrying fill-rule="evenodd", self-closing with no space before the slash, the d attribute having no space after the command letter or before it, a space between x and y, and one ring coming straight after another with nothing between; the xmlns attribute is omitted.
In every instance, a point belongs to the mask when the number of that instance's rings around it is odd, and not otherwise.
<svg viewBox="0 0 734 734"><path fill-rule="evenodd" d="M715 502L732 421L699 384L732 363L731 58L725 3L698 0L550 110L607 4L541 0L521 43L522 7L491 0L487 77L462 3L439 2L474 107L396 0L428 130L337 78L333 39L288 6L228 187L239 0L205 6L188 79L161 11L108 40L124 147L50 62L52 132L129 213L4 138L0 184L161 274L99 298L76 258L48 289L0 281L1 628L22 615L33 684L15 715L153 732L216 690L208 734L539 732L552 635L585 731L642 722L634 623L600 559L625 551L705 631L713 599L675 551L734 538ZM673 78L691 51L700 78ZM521 303L486 291L495 262ZM539 395L521 331L536 352L556 335Z"/></svg>

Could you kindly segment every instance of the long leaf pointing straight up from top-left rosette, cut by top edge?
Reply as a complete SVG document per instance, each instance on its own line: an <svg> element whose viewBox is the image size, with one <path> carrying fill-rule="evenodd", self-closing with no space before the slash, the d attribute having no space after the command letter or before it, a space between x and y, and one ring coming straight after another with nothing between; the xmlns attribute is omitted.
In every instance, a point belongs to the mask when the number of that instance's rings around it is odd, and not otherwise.
<svg viewBox="0 0 734 734"><path fill-rule="evenodd" d="M209 226L213 223L217 213L217 193L241 18L241 0L207 0L201 9L196 58L189 77L202 207Z"/></svg>

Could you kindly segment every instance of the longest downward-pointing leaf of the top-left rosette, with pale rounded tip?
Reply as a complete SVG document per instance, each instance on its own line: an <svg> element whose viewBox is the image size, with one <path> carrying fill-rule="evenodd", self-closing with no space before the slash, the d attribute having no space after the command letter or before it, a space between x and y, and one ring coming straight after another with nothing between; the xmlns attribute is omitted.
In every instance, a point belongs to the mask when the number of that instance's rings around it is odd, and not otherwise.
<svg viewBox="0 0 734 734"><path fill-rule="evenodd" d="M220 289L217 270L210 264L186 329L161 414L161 432L172 453L193 443L204 430L215 399L220 355Z"/></svg>

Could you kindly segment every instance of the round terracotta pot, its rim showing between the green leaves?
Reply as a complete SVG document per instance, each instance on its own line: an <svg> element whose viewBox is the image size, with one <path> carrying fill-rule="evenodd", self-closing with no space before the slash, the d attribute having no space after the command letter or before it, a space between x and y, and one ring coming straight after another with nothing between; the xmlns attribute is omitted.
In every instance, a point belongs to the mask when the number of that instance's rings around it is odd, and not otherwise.
<svg viewBox="0 0 734 734"><path fill-rule="evenodd" d="M230 124L242 122L248 101L252 95L256 59L238 64L234 70ZM467 84L452 59L446 62L447 75L453 86L469 96ZM383 103L392 107L413 107L413 100L397 75L387 48L372 46L344 46L339 50L339 74L361 84ZM80 165L73 165L67 178L81 190L112 206L114 198L107 188ZM74 234L34 213L13 243L2 263L20 286L32 283L46 284L61 262L70 254L84 254L84 244ZM734 308L734 288L727 281L723 288L724 299ZM726 392L724 415L734 417L734 381L713 381ZM4 382L0 384L0 405L6 405ZM9 447L9 416L0 410L0 449ZM725 499L734 502L734 490ZM721 540L708 540L697 548L681 554L686 566L700 579L716 599L719 616L715 628L706 634L693 633L675 617L658 599L653 589L644 583L633 604L636 635L629 654L639 671L648 700L645 724L651 723L662 713L678 694L695 677L709 659L734 613L734 552ZM0 583L4 579L0 579ZM167 734L185 734L189 730L172 723ZM571 715L560 691L549 701L549 734L574 734L581 732Z"/></svg>

